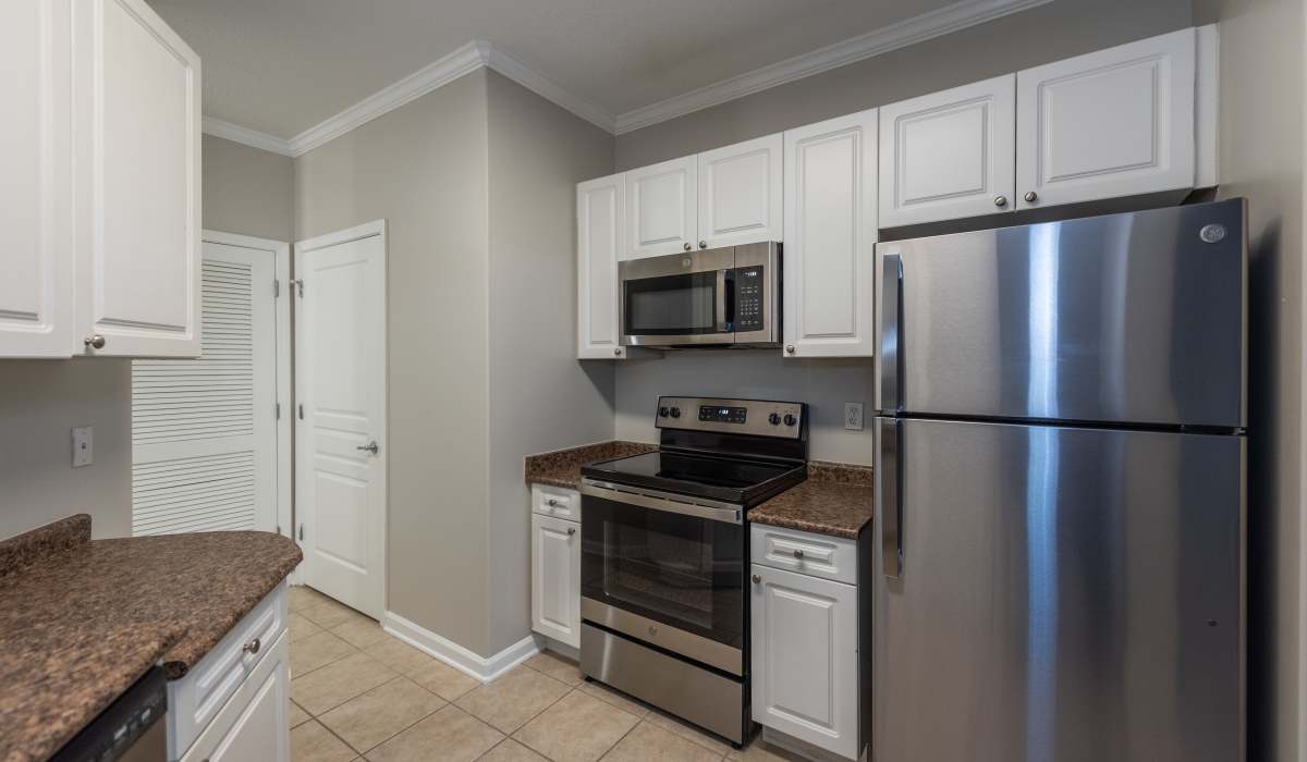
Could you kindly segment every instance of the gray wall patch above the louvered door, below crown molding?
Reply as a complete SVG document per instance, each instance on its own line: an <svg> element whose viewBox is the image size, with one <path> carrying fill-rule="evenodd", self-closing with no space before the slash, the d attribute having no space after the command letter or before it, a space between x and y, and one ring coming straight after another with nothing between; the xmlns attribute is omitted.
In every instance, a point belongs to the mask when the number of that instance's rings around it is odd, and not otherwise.
<svg viewBox="0 0 1307 762"><path fill-rule="evenodd" d="M290 157L204 136L204 227L272 240L295 233Z"/></svg>

